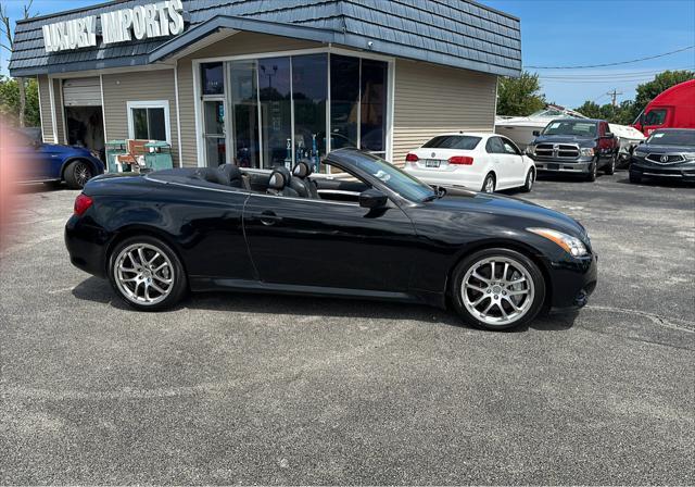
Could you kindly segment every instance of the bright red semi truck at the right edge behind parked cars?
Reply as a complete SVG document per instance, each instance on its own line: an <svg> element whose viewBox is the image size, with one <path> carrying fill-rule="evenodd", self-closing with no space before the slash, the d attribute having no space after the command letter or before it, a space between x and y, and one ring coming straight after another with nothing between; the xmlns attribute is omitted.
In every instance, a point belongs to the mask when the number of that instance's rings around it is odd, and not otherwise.
<svg viewBox="0 0 695 487"><path fill-rule="evenodd" d="M647 137L657 128L695 128L695 79L659 93L632 126Z"/></svg>

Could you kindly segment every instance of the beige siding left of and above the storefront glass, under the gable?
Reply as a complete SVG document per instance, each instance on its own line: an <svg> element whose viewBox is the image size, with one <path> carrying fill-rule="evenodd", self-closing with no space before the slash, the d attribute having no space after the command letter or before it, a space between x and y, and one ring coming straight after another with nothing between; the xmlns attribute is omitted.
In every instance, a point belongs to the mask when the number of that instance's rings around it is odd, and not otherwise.
<svg viewBox="0 0 695 487"><path fill-rule="evenodd" d="M238 33L178 61L178 97L185 166L198 165L192 60L320 47L318 42L255 33ZM109 127L111 136L111 127Z"/></svg>

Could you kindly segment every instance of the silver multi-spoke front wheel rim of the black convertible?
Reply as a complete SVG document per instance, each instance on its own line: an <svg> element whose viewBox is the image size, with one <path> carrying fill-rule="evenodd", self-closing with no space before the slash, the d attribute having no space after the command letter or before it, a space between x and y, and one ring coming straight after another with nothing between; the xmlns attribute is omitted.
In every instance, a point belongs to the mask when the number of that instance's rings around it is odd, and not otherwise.
<svg viewBox="0 0 695 487"><path fill-rule="evenodd" d="M466 310L490 326L502 326L523 317L535 297L531 274L520 262L492 257L476 262L462 280Z"/></svg>

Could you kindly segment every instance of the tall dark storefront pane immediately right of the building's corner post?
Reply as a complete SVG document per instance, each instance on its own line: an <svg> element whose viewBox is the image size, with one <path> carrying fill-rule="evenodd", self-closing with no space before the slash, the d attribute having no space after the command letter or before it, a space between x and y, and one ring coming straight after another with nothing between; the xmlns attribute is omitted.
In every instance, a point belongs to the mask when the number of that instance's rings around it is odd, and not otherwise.
<svg viewBox="0 0 695 487"><path fill-rule="evenodd" d="M359 58L330 57L330 148L357 147Z"/></svg>

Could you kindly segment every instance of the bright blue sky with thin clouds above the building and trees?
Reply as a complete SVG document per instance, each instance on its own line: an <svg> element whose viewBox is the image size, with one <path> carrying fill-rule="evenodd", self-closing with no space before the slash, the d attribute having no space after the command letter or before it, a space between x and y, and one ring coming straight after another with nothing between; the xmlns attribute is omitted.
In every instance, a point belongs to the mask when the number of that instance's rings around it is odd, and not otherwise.
<svg viewBox="0 0 695 487"><path fill-rule="evenodd" d="M25 0L1 0L11 17ZM144 0L143 0L144 1ZM386 1L386 0L381 0ZM101 0L35 0L39 14ZM695 0L480 0L521 20L525 66L595 65L661 54L695 45ZM7 74L2 50L0 74ZM534 70L548 101L577 108L634 98L635 87L664 70L695 70L695 49L637 63L581 70Z"/></svg>

